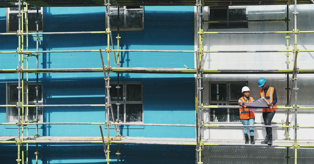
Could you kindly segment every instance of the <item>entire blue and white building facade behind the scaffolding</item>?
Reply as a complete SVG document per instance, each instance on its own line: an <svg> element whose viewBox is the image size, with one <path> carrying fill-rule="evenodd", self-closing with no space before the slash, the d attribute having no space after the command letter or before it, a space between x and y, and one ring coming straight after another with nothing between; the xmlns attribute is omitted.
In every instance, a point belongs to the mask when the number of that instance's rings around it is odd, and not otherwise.
<svg viewBox="0 0 314 164"><path fill-rule="evenodd" d="M206 20L263 20L285 19L286 5L276 6L227 6L203 8ZM313 30L312 15L314 6L298 5L298 30ZM25 10L25 9L24 9ZM16 8L0 8L0 33L16 31ZM42 7L40 8L40 32L78 32L105 31L105 7ZM117 8L112 7L111 31L116 48ZM289 30L294 28L294 7L288 9ZM30 7L29 31L36 31L34 26L35 8ZM120 50L197 50L196 7L193 6L136 6L119 8ZM26 20L25 18L23 20ZM26 27L25 27L26 28ZM286 31L287 26L281 22L241 22L241 23L203 23L204 32L255 32L255 31ZM298 36L300 50L314 50L311 33ZM287 34L204 34L204 50L286 50ZM289 50L294 47L294 39L289 34ZM36 50L36 35L28 36L28 50ZM15 51L18 37L0 35L0 51ZM39 50L105 50L107 34L41 34ZM24 36L26 43L26 36ZM113 48L112 46L110 46ZM106 56L106 53L103 52ZM290 52L288 67L292 69L293 53ZM313 52L300 52L298 66L312 68ZM25 56L24 56L25 57ZM116 67L110 54L110 66ZM106 58L106 57L105 57ZM29 68L36 68L34 56L28 60ZM106 60L106 59L105 59ZM121 52L120 67L151 67L151 68L196 68L195 53L192 52ZM15 69L18 55L9 53L0 56L0 65L5 69ZM106 61L105 61L105 65ZM39 68L99 68L102 66L99 52L45 52L40 53ZM203 69L288 69L285 52L260 53L204 53ZM0 74L1 104L11 105L18 101L16 73ZM270 86L277 89L278 105L287 103L287 75L285 74L204 74L203 99L204 105L237 105L241 93L239 89L248 86L251 96L259 98L257 80L267 79ZM22 79L26 82L26 74ZM291 75L289 75L291 78ZM124 123L144 124L195 124L195 93L196 78L193 74L119 74L120 93L115 92L117 74L111 73L111 100L116 111L119 99L119 119ZM35 104L36 74L29 73L29 104ZM289 85L291 80L289 81ZM22 90L26 91L26 85ZM290 86L289 86L290 87ZM299 105L314 105L313 75L298 75ZM40 73L39 104L104 104L106 102L106 86L104 75L98 73ZM24 94L24 93L23 93ZM294 94L292 94L294 98ZM292 101L291 104L293 104ZM29 108L29 119L35 120L35 108ZM287 109L278 109L272 122L285 121ZM256 124L262 125L261 109L256 112ZM298 114L298 124L313 126L311 109L302 109ZM117 114L115 114L115 117ZM105 122L105 107L42 107L39 108L39 122ZM294 114L290 111L290 125L294 123ZM18 112L15 107L0 107L2 123L15 123ZM211 124L239 123L239 113L233 108L204 108L203 122ZM280 124L281 125L281 124ZM39 125L40 136L100 136L99 125ZM106 128L102 125L103 129ZM0 136L17 136L16 125L1 125ZM145 126L120 125L120 134L130 137L164 137L164 138L195 138L195 127L177 126ZM29 125L29 136L36 133L36 126ZM300 129L299 140L312 140L312 129ZM115 136L114 126L110 127L111 136ZM273 139L283 140L284 128L273 128ZM290 128L289 135L294 140L294 131ZM203 128L204 139L210 140L242 140L243 128ZM288 136L289 137L289 136ZM265 138L264 128L255 128L255 138ZM244 141L243 141L244 142ZM24 146L24 149L25 146ZM102 144L39 144L38 163L104 163L106 162ZM29 163L35 163L36 144L29 144ZM111 144L111 161L117 161L115 152L117 145ZM1 163L16 162L17 146L1 144ZM299 151L298 151L299 152ZM120 144L121 163L195 163L194 145L137 145ZM300 148L299 163L312 163L313 150ZM290 162L293 162L293 149L290 149ZM25 156L25 151L24 151ZM243 147L243 146L204 146L203 163L286 163L285 147Z"/></svg>

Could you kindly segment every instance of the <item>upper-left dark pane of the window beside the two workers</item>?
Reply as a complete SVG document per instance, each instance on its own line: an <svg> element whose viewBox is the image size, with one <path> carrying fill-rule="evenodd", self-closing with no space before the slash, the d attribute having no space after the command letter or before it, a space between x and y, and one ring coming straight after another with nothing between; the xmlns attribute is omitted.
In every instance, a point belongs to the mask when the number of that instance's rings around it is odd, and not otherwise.
<svg viewBox="0 0 314 164"><path fill-rule="evenodd" d="M210 99L211 101L226 101L227 97L227 84L214 84L210 86Z"/></svg>

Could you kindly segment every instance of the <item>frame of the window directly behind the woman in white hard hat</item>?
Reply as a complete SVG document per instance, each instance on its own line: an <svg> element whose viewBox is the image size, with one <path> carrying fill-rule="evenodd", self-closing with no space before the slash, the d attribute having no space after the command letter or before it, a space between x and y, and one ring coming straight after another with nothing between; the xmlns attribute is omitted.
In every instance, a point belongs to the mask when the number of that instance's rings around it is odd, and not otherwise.
<svg viewBox="0 0 314 164"><path fill-rule="evenodd" d="M215 101L212 101L211 100L211 84L212 83L214 83L214 84L226 84L226 86L227 86L227 97L228 97L228 101L227 100L225 100L225 101L217 101L217 100L215 100ZM210 82L208 82L208 86L209 86L209 89L208 89L208 94L209 94L209 104L212 104L212 103L224 103L224 104L226 104L226 106L229 106L231 103L238 103L238 100L231 100L230 98L231 98L231 95L230 95L230 84L241 84L241 83L246 83L246 86L248 87L248 81L217 81L217 82L215 82L215 81L210 81ZM226 98L227 99L227 98ZM216 108L213 108L213 109L216 109ZM227 123L230 123L230 109L232 110L233 108L227 108ZM211 111L211 108L208 108L208 122L209 123L212 123L211 121L210 121L210 111ZM224 122L222 122L222 123L224 123ZM231 122L232 123L232 122Z"/></svg>

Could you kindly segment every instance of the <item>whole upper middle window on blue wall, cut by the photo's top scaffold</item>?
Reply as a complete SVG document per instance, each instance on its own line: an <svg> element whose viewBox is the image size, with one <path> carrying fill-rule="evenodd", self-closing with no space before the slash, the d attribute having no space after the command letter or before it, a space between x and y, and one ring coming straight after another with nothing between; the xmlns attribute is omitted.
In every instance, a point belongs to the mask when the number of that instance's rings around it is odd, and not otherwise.
<svg viewBox="0 0 314 164"><path fill-rule="evenodd" d="M112 31L117 30L118 28L117 21L118 21L118 8L117 6L110 6L110 25L111 25ZM143 30L144 29L144 7L143 6L120 6L119 29L120 30Z"/></svg>

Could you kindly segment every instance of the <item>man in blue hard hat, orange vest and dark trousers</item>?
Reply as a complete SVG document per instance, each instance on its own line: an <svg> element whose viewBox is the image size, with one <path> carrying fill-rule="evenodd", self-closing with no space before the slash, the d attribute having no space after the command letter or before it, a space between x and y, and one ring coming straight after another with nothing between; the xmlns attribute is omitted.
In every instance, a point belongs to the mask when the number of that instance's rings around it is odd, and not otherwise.
<svg viewBox="0 0 314 164"><path fill-rule="evenodd" d="M260 97L265 98L268 102L269 107L277 107L277 94L276 89L274 87L269 87L267 85L266 79L260 78L258 79L258 87L262 87L259 91ZM276 113L277 109L273 108L263 108L263 119L264 125L271 125L272 119ZM273 133L272 128L265 128L266 129L266 139L262 141L262 144L273 145Z"/></svg>

